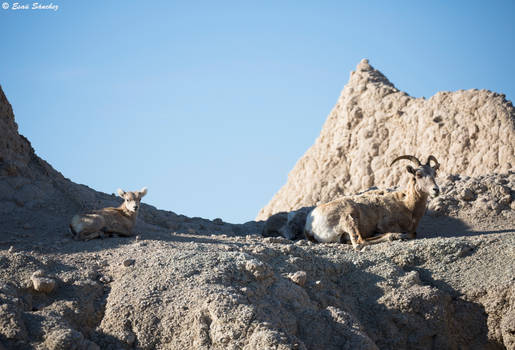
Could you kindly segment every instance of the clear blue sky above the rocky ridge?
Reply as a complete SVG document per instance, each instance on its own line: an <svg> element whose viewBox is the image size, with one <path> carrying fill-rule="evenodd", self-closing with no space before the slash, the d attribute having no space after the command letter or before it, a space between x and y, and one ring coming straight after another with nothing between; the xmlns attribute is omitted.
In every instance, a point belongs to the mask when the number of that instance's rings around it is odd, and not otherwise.
<svg viewBox="0 0 515 350"><path fill-rule="evenodd" d="M0 2L0 84L38 155L188 216L252 220L362 58L415 97L515 97L512 0Z"/></svg>

